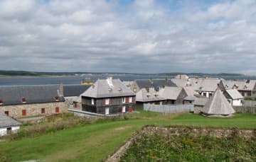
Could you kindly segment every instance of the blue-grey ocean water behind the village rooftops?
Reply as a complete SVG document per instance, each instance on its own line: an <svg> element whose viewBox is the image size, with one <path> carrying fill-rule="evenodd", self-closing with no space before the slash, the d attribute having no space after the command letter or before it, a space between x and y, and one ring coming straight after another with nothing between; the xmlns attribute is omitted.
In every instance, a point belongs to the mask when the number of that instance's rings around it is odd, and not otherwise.
<svg viewBox="0 0 256 162"><path fill-rule="evenodd" d="M89 75L89 76L14 76L14 77L1 77L0 86L16 86L16 85L46 85L46 84L80 84L82 79L90 78L92 81L97 79L106 79L106 75ZM121 81L133 81L134 79L166 79L166 76L157 75L116 75L112 76L113 79L120 79ZM168 79L174 78L174 76L168 76ZM256 80L256 76L222 76L225 80L233 79L253 79Z"/></svg>

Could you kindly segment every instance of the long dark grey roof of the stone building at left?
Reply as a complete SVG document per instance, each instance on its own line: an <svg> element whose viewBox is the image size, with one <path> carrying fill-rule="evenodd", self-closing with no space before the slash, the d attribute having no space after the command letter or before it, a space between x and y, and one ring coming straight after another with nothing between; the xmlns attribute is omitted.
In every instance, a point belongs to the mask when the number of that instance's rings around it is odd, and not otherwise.
<svg viewBox="0 0 256 162"><path fill-rule="evenodd" d="M0 99L3 105L23 104L22 98L26 98L26 103L51 103L56 102L59 85L39 85L39 86L0 86ZM65 101L59 97L59 101Z"/></svg>

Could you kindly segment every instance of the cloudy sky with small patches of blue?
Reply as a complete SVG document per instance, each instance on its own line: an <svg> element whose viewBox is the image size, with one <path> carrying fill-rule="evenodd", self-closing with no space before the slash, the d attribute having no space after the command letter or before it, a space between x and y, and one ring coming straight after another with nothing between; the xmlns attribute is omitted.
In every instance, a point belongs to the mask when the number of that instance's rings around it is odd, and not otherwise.
<svg viewBox="0 0 256 162"><path fill-rule="evenodd" d="M0 0L0 69L256 74L255 0Z"/></svg>

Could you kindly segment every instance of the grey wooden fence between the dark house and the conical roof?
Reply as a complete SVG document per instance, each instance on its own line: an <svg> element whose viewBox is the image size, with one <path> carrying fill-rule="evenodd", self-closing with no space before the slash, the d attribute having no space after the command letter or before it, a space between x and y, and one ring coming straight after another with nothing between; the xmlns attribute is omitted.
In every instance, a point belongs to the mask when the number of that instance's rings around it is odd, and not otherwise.
<svg viewBox="0 0 256 162"><path fill-rule="evenodd" d="M164 113L177 113L193 111L193 105L152 105L149 103L144 104L144 110Z"/></svg>

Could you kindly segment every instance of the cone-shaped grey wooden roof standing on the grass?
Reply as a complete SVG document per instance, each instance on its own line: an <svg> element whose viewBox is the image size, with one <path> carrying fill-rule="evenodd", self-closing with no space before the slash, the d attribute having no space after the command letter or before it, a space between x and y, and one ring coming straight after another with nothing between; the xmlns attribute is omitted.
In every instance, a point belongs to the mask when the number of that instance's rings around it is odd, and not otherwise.
<svg viewBox="0 0 256 162"><path fill-rule="evenodd" d="M207 101L206 105L202 108L202 112L208 115L230 115L235 113L227 98L217 88L213 96Z"/></svg>

